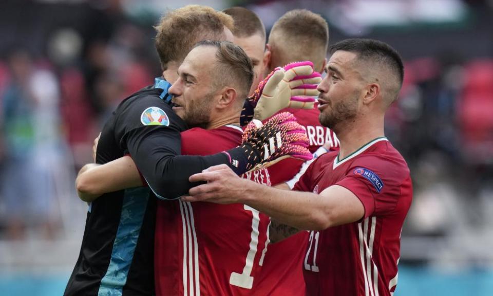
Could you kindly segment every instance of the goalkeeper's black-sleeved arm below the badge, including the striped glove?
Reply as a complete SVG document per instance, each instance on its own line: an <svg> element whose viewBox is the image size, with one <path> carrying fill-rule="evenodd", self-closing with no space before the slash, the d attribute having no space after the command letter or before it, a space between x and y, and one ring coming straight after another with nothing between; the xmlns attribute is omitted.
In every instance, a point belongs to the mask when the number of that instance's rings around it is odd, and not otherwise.
<svg viewBox="0 0 493 296"><path fill-rule="evenodd" d="M173 120L179 120L173 115ZM129 120L132 119L135 121L135 117ZM126 123L124 116L120 122ZM137 122L133 126L124 129L121 148L128 150L149 188L162 199L186 194L192 187L188 177L214 165L225 164L240 175L278 157L311 159L306 134L289 113L278 114L261 127L249 125L241 146L210 156L179 155L181 137L173 124L150 126ZM197 143L204 144L207 143Z"/></svg>

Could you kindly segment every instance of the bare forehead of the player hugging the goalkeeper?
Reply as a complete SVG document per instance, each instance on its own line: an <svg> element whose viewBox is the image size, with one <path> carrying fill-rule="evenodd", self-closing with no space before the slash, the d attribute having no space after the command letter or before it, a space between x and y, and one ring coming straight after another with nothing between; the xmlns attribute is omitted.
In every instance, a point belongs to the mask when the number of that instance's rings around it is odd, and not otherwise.
<svg viewBox="0 0 493 296"><path fill-rule="evenodd" d="M217 48L214 46L199 46L192 49L183 60L179 71L198 76L214 67L212 63L216 59Z"/></svg>

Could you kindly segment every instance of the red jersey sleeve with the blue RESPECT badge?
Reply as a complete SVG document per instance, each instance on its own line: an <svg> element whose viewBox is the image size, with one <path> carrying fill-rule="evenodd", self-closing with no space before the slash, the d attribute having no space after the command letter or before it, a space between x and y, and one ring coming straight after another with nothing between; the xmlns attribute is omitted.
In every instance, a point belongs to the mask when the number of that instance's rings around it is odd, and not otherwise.
<svg viewBox="0 0 493 296"><path fill-rule="evenodd" d="M408 177L407 166L374 155L355 160L336 185L345 187L361 200L367 218L392 212L402 194L402 183Z"/></svg>

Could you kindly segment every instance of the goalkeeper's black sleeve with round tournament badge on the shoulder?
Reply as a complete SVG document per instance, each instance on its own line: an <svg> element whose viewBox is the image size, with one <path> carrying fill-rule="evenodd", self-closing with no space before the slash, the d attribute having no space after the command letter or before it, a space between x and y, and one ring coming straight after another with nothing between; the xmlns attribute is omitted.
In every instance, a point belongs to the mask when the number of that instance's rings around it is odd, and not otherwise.
<svg viewBox="0 0 493 296"><path fill-rule="evenodd" d="M118 113L115 134L120 148L128 150L158 198L178 198L197 185L188 181L189 176L213 165L230 164L222 153L181 156L180 132L186 126L158 96L124 102Z"/></svg>

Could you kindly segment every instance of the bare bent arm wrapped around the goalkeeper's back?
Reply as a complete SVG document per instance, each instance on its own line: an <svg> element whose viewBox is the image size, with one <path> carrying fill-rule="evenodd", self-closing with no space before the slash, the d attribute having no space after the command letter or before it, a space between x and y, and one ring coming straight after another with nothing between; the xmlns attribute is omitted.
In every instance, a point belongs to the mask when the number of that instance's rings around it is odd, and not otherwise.
<svg viewBox="0 0 493 296"><path fill-rule="evenodd" d="M135 162L129 156L105 164L88 163L75 179L79 198L87 202L93 201L103 193L142 185Z"/></svg>

